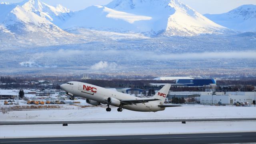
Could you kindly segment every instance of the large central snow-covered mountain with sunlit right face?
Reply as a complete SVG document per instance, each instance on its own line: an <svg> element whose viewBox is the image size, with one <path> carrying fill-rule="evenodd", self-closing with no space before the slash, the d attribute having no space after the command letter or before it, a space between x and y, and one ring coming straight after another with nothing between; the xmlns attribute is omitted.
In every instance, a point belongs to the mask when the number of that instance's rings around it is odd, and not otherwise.
<svg viewBox="0 0 256 144"><path fill-rule="evenodd" d="M178 0L114 0L106 6L81 10L60 27L167 36L213 34L226 30Z"/></svg>

